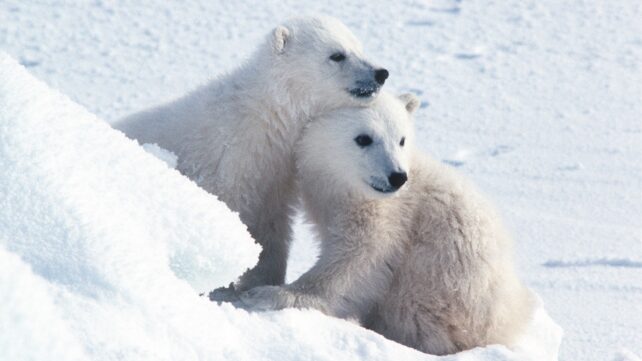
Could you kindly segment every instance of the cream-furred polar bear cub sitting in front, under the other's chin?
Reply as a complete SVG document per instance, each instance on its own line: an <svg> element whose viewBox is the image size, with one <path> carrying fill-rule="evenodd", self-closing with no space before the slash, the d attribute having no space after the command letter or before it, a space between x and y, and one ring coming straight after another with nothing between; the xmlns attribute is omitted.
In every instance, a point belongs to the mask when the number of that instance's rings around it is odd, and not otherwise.
<svg viewBox="0 0 642 361"><path fill-rule="evenodd" d="M316 308L431 354L513 345L534 299L511 239L471 184L417 150L417 105L382 93L311 122L296 154L319 260L290 285L243 293L245 306Z"/></svg>

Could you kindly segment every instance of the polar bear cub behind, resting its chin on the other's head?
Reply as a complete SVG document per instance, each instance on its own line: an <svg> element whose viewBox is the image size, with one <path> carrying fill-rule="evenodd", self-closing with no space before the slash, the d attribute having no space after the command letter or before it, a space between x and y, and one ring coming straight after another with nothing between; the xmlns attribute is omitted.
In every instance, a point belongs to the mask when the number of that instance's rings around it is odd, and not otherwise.
<svg viewBox="0 0 642 361"><path fill-rule="evenodd" d="M116 125L176 154L178 170L238 211L263 246L257 266L213 298L284 282L300 130L323 112L367 105L387 77L339 20L298 18L231 74Z"/></svg>

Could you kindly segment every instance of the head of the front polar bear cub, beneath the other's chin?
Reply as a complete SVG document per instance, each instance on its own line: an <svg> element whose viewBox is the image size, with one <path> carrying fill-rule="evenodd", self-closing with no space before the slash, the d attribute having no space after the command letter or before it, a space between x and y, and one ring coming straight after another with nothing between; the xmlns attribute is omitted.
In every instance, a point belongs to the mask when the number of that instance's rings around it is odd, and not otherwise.
<svg viewBox="0 0 642 361"><path fill-rule="evenodd" d="M313 120L297 146L304 187L366 198L394 194L408 180L412 113L419 100L382 92L369 107L335 110ZM314 190L313 190L314 191Z"/></svg>

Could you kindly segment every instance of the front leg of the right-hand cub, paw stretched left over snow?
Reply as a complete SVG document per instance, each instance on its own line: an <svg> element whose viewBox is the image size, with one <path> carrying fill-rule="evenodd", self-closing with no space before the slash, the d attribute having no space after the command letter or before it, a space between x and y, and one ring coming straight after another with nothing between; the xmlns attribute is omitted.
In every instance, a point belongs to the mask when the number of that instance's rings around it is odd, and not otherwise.
<svg viewBox="0 0 642 361"><path fill-rule="evenodd" d="M314 308L335 317L364 320L389 287L393 276L389 264L399 250L394 232L363 224L368 219L364 214L377 212L367 206L353 212L354 219L341 234L322 240L319 259L309 271L289 285L241 293L242 307L256 311ZM351 229L361 226L365 227Z"/></svg>

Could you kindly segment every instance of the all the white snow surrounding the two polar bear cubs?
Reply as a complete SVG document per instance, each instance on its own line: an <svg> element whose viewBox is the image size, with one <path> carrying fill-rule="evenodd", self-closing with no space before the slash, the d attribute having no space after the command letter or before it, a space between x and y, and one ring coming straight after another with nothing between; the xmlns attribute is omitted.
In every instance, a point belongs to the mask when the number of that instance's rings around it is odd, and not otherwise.
<svg viewBox="0 0 642 361"><path fill-rule="evenodd" d="M188 284L199 289L229 282L256 250L234 253L239 239L250 244L242 227L208 227L203 219L238 220L134 143L96 125L90 114L113 122L182 95L237 66L281 19L314 13L336 16L353 30L370 58L390 71L388 90L421 98L421 147L472 178L500 208L515 235L523 279L564 329L560 359L639 360L637 0L0 0L0 51L89 111L30 83L2 58L0 359L37 359L43 348L33 345L47 342L52 351L40 359L423 357L315 312L249 315L190 298ZM54 105L58 109L50 111ZM18 122L16 114L28 121ZM70 114L86 122L67 122ZM55 127L44 131L47 117ZM78 180L61 176L66 174ZM128 175L158 180L131 186ZM87 179L94 183L83 186ZM119 197L127 187L132 189ZM25 189L26 196L20 193ZM96 189L114 194L96 198ZM188 225L200 224L189 235L190 246L179 242L189 227L175 224L177 214ZM105 217L110 221L96 227ZM60 226L64 234L46 227L68 219L79 225ZM88 237L100 246L83 244ZM208 244L210 237L219 243ZM47 247L65 253L47 253ZM289 278L304 271L314 254L306 227L298 226ZM119 257L124 264L114 264ZM75 265L71 272L67 262ZM141 285L148 292L132 292ZM167 298L168 289L176 296ZM150 307L154 299L158 304ZM306 333L306 323L315 328ZM78 333L91 342L79 343ZM268 344L262 351L254 347ZM502 355L501 348L490 348L458 360Z"/></svg>

